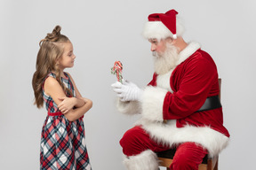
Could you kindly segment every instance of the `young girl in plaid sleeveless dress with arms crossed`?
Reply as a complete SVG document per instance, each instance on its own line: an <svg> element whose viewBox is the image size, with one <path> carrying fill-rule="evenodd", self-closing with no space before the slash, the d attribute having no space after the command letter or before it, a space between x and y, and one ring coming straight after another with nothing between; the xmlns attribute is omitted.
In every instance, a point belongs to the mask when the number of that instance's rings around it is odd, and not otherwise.
<svg viewBox="0 0 256 170"><path fill-rule="evenodd" d="M74 66L76 56L68 37L56 26L39 43L33 75L35 104L45 104L48 115L41 137L40 168L51 170L89 169L84 136L84 113L92 101L80 95L75 81L64 69Z"/></svg>

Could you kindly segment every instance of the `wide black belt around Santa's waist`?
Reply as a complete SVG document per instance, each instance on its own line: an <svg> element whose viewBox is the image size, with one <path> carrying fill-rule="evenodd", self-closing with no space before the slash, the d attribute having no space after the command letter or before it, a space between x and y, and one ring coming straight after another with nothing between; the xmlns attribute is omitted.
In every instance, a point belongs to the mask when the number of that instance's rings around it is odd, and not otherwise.
<svg viewBox="0 0 256 170"><path fill-rule="evenodd" d="M196 112L209 111L222 107L219 96L207 97L203 106Z"/></svg>

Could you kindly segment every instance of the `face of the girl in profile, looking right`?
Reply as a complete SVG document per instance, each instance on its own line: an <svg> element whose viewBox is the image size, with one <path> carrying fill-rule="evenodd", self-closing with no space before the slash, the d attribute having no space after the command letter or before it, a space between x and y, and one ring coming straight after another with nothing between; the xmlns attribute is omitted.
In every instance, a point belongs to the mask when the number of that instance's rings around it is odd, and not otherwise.
<svg viewBox="0 0 256 170"><path fill-rule="evenodd" d="M63 55L57 60L60 69L65 69L74 66L76 56L73 53L73 45L71 42L63 42Z"/></svg>

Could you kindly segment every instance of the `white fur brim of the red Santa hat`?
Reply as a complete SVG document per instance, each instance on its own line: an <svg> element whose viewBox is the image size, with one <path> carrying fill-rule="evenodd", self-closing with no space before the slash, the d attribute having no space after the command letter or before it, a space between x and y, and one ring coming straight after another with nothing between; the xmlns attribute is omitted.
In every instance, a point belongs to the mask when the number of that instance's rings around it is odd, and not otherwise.
<svg viewBox="0 0 256 170"><path fill-rule="evenodd" d="M184 27L182 26L180 19L176 20L176 35L164 26L163 22L161 21L148 21L145 23L142 35L146 39L154 39L157 40L165 39L167 37L172 37L175 39L177 36L181 36L184 33Z"/></svg>

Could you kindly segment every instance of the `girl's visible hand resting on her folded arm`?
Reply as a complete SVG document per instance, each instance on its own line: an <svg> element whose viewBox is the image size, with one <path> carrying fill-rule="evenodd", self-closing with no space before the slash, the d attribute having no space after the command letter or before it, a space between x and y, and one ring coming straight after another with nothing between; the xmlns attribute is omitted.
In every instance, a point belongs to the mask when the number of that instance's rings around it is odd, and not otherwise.
<svg viewBox="0 0 256 170"><path fill-rule="evenodd" d="M63 114L66 114L76 105L76 97L61 97L59 99L62 102L58 104L58 108Z"/></svg>

